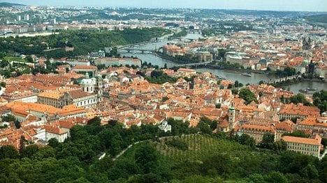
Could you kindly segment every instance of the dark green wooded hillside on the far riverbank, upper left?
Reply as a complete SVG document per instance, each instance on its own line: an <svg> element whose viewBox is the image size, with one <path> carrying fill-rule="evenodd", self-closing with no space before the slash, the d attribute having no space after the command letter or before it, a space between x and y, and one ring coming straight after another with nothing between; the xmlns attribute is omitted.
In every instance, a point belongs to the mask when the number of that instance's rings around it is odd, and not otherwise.
<svg viewBox="0 0 327 183"><path fill-rule="evenodd" d="M124 31L68 30L59 31L58 34L49 36L0 38L0 50L15 51L25 55L46 55L48 58L62 58L86 55L92 51L103 50L105 47L149 41L167 33L170 31L161 28L125 29ZM10 42L14 42L14 44ZM64 47L74 47L74 50L66 52L62 49ZM111 54L117 55L115 49L113 50ZM31 59L28 58L28 61Z"/></svg>

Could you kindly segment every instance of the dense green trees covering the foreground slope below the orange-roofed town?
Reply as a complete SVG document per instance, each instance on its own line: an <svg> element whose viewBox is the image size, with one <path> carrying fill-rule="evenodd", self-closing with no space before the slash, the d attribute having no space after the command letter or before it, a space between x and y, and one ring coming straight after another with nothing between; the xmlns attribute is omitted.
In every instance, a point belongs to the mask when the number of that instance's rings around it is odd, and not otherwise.
<svg viewBox="0 0 327 183"><path fill-rule="evenodd" d="M12 146L0 148L1 182L326 182L327 159L294 152L257 150L254 139L242 135L229 138L212 134L217 123L202 118L203 127L189 128L188 122L168 119L172 132L161 132L157 126L101 126L95 118L84 127L71 129L64 143L51 139L49 145L28 145L20 152ZM189 138L187 134L191 135ZM158 137L166 136L166 153L192 152L200 141L215 139L216 151L201 154L197 161L173 158L157 148ZM169 136L175 136L170 138ZM181 137L178 137L181 136ZM270 148L273 136L265 135ZM148 141L152 139L153 141ZM182 141L182 139L194 139ZM145 140L145 141L144 141ZM143 141L113 159L136 141ZM170 142L170 143L169 143ZM196 146L189 147L189 143ZM241 144L243 145L241 145ZM194 148L195 147L195 148ZM209 146L207 148L210 148ZM179 152L180 151L180 152ZM108 155L99 160L97 155ZM277 152L277 153L276 153Z"/></svg>

